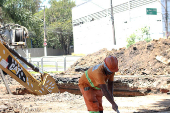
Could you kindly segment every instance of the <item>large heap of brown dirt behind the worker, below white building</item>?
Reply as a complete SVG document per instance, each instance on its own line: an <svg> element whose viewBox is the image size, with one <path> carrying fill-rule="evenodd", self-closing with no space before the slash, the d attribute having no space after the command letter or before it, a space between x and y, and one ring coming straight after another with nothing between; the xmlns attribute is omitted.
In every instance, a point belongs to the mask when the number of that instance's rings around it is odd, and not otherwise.
<svg viewBox="0 0 170 113"><path fill-rule="evenodd" d="M170 58L170 39L160 38L151 42L140 41L129 48L119 50L99 50L77 60L65 73L83 72L88 68L102 63L106 56L113 55L119 60L117 75L167 75L170 74L169 64L157 60L162 56ZM167 62L167 61L166 61Z"/></svg>

